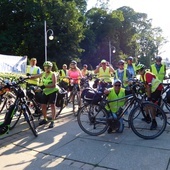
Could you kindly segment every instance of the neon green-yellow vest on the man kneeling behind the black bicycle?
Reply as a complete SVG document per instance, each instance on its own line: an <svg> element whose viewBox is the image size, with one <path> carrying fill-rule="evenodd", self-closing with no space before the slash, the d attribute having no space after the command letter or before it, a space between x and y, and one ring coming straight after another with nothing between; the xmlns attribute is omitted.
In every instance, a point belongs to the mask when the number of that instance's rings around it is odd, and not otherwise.
<svg viewBox="0 0 170 170"><path fill-rule="evenodd" d="M116 100L125 97L125 89L121 88L119 94L115 93L114 88L110 89L110 93L107 97L107 100ZM110 102L109 106L106 106L107 110L111 110L111 112L116 113L120 107L124 106L125 104L125 99L118 100L115 102Z"/></svg>

